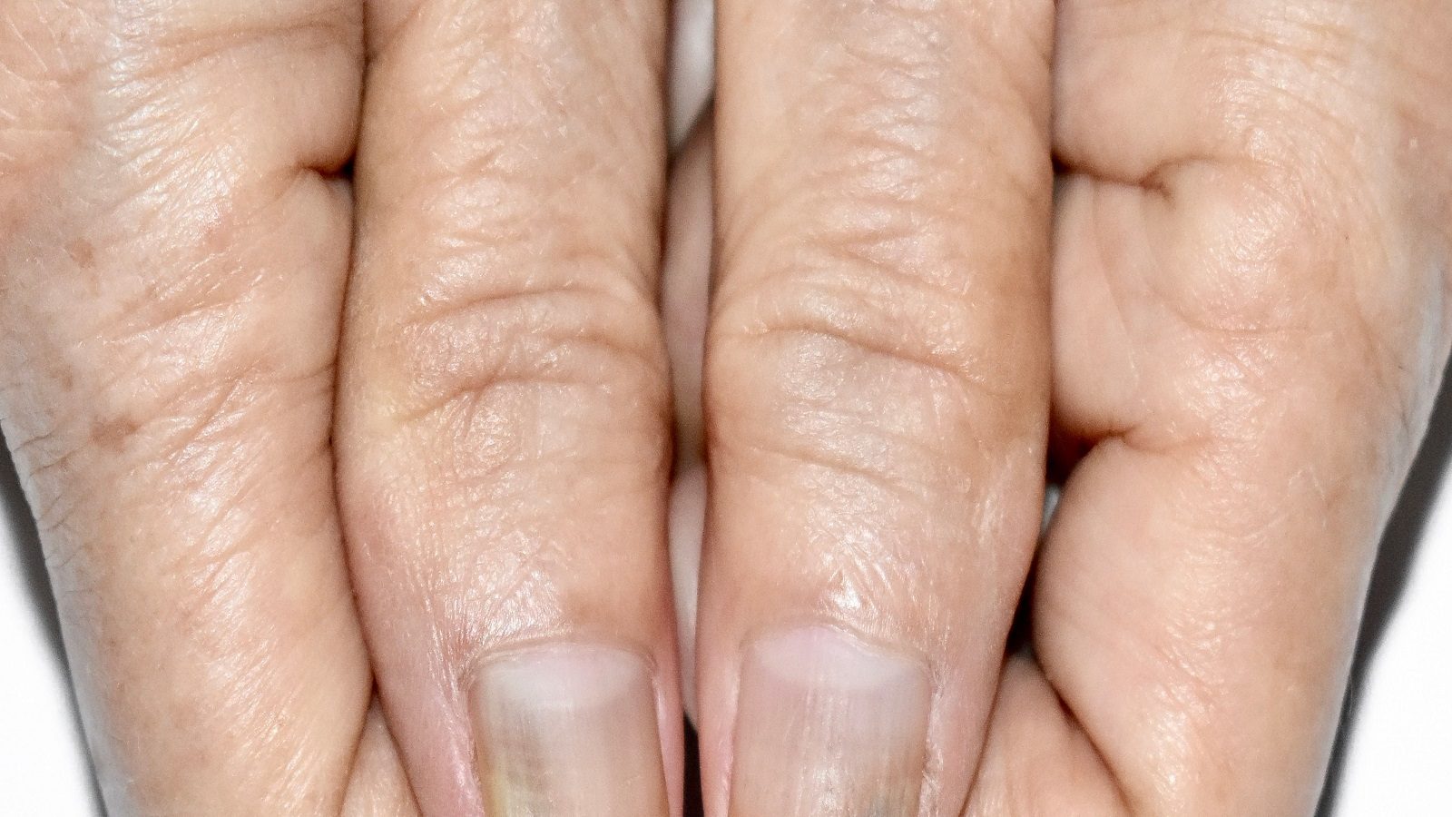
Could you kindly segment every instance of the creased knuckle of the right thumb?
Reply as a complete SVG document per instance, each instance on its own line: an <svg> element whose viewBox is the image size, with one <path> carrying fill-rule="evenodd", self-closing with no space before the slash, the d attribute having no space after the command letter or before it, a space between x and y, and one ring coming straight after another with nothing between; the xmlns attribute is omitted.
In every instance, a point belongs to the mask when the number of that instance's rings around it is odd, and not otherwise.
<svg viewBox="0 0 1452 817"><path fill-rule="evenodd" d="M921 269L842 247L794 257L717 299L714 449L926 499L963 480L974 452L1035 433L1047 378L1031 340L996 326L1015 310L987 315Z"/></svg>

